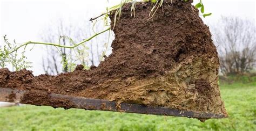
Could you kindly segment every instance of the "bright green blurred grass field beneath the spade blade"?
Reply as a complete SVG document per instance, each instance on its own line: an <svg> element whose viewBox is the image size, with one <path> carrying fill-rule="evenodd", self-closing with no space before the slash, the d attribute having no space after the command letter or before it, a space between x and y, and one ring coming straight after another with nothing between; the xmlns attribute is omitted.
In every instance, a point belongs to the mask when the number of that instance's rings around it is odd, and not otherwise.
<svg viewBox="0 0 256 131"><path fill-rule="evenodd" d="M0 108L0 130L256 130L256 83L221 84L230 115L207 120L20 106Z"/></svg>

